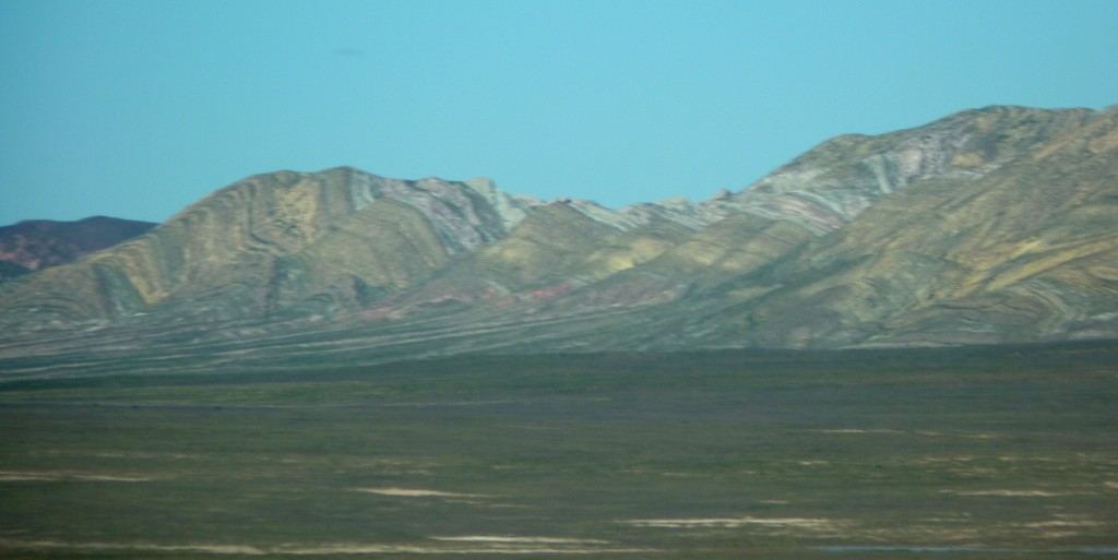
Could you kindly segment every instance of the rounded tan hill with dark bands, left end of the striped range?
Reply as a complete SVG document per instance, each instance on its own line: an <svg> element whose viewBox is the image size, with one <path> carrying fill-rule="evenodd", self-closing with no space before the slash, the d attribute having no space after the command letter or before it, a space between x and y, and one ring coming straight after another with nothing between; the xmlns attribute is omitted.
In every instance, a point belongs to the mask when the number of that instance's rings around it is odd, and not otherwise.
<svg viewBox="0 0 1118 560"><path fill-rule="evenodd" d="M257 175L112 251L9 286L7 323L354 309L503 237L537 203L484 180L399 181L348 168Z"/></svg>

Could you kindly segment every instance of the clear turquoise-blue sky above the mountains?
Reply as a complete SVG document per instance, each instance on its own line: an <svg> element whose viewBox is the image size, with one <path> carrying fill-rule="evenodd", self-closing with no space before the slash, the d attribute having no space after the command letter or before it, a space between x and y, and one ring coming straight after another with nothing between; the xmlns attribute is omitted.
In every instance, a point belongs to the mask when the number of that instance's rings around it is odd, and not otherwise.
<svg viewBox="0 0 1118 560"><path fill-rule="evenodd" d="M490 177L609 207L836 134L1118 103L1118 1L0 0L0 225L244 177Z"/></svg>

